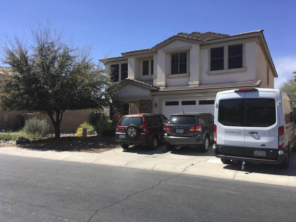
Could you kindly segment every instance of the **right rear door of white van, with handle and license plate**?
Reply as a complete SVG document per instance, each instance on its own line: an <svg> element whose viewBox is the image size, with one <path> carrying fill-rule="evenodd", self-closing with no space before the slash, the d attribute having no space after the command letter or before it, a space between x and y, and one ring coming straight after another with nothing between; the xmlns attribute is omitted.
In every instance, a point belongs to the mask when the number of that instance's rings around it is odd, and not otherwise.
<svg viewBox="0 0 296 222"><path fill-rule="evenodd" d="M276 92L246 92L245 156L278 158L279 113Z"/></svg>

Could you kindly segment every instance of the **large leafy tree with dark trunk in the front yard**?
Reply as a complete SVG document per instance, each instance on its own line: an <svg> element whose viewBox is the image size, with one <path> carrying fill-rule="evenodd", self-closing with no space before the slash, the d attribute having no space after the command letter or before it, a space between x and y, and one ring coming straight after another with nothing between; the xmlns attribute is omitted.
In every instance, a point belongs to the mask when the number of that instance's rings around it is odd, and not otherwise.
<svg viewBox="0 0 296 222"><path fill-rule="evenodd" d="M66 110L106 107L116 88L90 58L91 47L73 47L49 22L28 29L30 39L6 35L1 43L1 61L10 69L1 76L0 106L46 112L59 138Z"/></svg>

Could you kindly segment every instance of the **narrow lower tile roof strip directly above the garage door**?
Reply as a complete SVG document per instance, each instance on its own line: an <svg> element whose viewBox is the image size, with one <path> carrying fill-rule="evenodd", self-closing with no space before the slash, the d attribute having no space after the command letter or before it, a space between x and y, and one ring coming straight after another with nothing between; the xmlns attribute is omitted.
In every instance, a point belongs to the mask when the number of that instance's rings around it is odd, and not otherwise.
<svg viewBox="0 0 296 222"><path fill-rule="evenodd" d="M196 86L175 86L164 87L154 92L169 92L169 91L187 91L198 89L219 89L219 88L241 88L241 87L259 87L261 80L245 81L245 82L231 82L231 83L216 83L216 84L200 84Z"/></svg>

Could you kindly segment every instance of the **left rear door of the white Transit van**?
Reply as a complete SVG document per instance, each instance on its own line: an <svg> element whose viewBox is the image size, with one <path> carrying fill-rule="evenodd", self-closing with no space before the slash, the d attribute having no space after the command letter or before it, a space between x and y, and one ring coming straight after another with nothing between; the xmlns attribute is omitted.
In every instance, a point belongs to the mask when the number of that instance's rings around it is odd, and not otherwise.
<svg viewBox="0 0 296 222"><path fill-rule="evenodd" d="M215 109L220 154L245 156L245 92L220 94Z"/></svg>

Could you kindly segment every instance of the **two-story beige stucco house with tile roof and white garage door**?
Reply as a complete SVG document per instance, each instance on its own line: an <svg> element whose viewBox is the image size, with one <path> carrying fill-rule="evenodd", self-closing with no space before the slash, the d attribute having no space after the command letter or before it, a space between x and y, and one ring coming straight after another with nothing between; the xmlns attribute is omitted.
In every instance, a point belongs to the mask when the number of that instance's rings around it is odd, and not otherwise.
<svg viewBox="0 0 296 222"><path fill-rule="evenodd" d="M180 32L157 45L104 60L119 84L110 109L123 114L210 112L216 93L274 88L278 77L263 30L234 35Z"/></svg>

